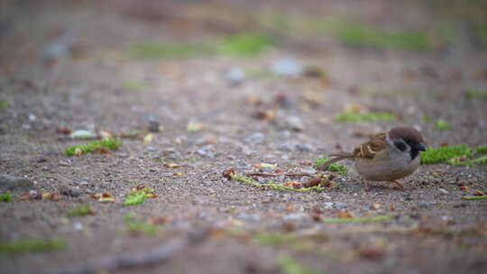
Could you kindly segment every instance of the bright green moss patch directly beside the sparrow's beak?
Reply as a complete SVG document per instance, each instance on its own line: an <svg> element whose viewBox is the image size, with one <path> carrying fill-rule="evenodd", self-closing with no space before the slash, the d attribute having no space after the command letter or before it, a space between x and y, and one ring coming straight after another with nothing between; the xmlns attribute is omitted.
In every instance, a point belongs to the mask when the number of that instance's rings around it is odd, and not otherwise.
<svg viewBox="0 0 487 274"><path fill-rule="evenodd" d="M422 165L434 164L446 162L447 160L451 160L456 157L471 157L472 149L467 145L461 144L456 146L431 148L427 151L421 151L420 155L420 163Z"/></svg>

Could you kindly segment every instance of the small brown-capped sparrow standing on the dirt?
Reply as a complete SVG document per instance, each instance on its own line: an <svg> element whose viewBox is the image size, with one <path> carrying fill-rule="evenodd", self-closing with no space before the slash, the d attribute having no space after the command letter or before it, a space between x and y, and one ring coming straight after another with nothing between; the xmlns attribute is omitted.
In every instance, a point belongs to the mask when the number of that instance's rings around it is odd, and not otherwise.
<svg viewBox="0 0 487 274"><path fill-rule="evenodd" d="M318 170L339 160L354 160L354 169L366 180L391 181L401 189L405 187L397 180L416 171L419 166L419 151L426 151L423 136L409 126L394 127L389 132L373 135L369 141L354 148L351 153L331 154ZM365 181L365 188L369 184Z"/></svg>

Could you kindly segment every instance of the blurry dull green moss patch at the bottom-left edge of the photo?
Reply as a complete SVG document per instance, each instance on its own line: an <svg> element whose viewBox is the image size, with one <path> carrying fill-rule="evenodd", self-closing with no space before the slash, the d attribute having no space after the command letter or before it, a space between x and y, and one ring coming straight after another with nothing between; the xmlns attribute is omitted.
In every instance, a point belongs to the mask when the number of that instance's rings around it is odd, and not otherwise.
<svg viewBox="0 0 487 274"><path fill-rule="evenodd" d="M61 239L21 239L14 242L1 242L0 253L16 254L25 252L59 251L66 246Z"/></svg>

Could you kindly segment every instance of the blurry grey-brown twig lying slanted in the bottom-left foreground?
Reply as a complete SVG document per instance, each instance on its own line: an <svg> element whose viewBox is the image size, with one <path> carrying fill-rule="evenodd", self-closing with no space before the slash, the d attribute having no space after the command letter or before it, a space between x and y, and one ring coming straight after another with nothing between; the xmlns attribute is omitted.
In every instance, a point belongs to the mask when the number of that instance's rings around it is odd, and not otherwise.
<svg viewBox="0 0 487 274"><path fill-rule="evenodd" d="M176 239L163 243L150 251L107 256L99 260L75 264L65 269L46 272L46 274L96 274L101 269L115 270L142 267L161 262L162 260L168 260L172 254L181 251L186 246L186 243L186 241Z"/></svg>

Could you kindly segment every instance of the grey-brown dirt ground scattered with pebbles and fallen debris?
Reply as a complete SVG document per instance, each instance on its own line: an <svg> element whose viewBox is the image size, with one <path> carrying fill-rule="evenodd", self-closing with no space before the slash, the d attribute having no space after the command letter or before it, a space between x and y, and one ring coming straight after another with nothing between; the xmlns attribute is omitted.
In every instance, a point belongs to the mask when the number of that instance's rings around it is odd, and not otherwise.
<svg viewBox="0 0 487 274"><path fill-rule="evenodd" d="M487 144L487 101L465 96L487 91L487 46L475 36L485 6L391 2L3 1L0 100L8 105L0 108L0 173L34 185L0 202L0 242L65 244L0 252L0 272L485 273L487 200L462 198L487 192L485 165L423 165L402 179L407 191L385 182L365 191L353 169L332 187L308 192L222 176L229 168L257 171L259 163L310 172L313 160L397 124L420 129L429 147ZM249 15L259 13L420 29L433 46L351 46L263 26ZM437 34L446 29L454 33L448 39ZM130 51L141 42L212 41L256 30L284 39L254 57L140 59ZM283 58L322 74L270 75ZM232 68L247 72L241 82L227 75ZM347 105L397 119L336 122ZM451 129L438 129L437 119ZM107 154L66 156L67 146L87 141L57 132L132 132L156 123L163 130L152 140L123 138ZM139 185L156 197L123 205ZM79 195L22 199L66 187ZM115 202L90 197L104 192ZM68 215L85 204L93 215ZM325 222L338 212L387 218Z"/></svg>

